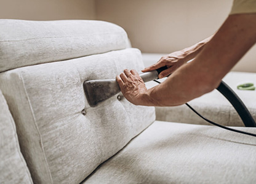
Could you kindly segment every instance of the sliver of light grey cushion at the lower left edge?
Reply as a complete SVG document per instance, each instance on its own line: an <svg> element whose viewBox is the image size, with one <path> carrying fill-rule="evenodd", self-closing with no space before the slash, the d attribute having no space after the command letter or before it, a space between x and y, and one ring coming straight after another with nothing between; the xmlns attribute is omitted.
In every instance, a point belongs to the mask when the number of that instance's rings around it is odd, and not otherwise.
<svg viewBox="0 0 256 184"><path fill-rule="evenodd" d="M33 183L20 152L15 123L0 90L0 183Z"/></svg>

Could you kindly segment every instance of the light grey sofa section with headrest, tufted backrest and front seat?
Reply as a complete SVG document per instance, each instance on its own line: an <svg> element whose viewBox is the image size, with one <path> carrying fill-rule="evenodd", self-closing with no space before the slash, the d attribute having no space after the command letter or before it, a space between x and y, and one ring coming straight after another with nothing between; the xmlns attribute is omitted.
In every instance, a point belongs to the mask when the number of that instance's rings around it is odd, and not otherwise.
<svg viewBox="0 0 256 184"><path fill-rule="evenodd" d="M90 107L84 81L143 67L112 23L0 20L0 183L255 183L254 137Z"/></svg>

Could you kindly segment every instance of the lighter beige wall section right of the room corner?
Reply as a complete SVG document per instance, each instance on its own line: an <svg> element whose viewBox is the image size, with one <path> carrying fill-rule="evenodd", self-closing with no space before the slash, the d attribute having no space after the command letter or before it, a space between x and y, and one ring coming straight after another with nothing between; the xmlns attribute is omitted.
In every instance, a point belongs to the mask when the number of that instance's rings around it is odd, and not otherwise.
<svg viewBox="0 0 256 184"><path fill-rule="evenodd" d="M213 34L233 0L95 0L96 17L126 29L133 47L170 53ZM256 47L234 69L256 72Z"/></svg>

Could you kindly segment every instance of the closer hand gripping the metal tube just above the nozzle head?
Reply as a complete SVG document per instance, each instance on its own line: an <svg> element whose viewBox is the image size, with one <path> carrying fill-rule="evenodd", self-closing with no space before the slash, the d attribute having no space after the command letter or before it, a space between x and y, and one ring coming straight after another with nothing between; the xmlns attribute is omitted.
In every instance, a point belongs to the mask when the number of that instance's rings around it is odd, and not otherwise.
<svg viewBox="0 0 256 184"><path fill-rule="evenodd" d="M145 104L143 102L143 94L145 94L147 89L142 77L138 75L137 71L125 69L123 73L116 76L116 81L119 84L122 94L124 94L124 97L129 102L135 105Z"/></svg>

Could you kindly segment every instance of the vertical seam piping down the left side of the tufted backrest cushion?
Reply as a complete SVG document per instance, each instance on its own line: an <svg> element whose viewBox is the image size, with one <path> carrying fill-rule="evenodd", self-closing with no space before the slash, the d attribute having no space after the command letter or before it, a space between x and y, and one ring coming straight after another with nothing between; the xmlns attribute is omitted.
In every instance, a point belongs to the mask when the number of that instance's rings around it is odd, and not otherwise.
<svg viewBox="0 0 256 184"><path fill-rule="evenodd" d="M33 109L32 109L32 105L31 105L31 102L30 102L30 98L28 96L28 93L26 91L26 87L25 87L25 82L24 82L24 79L23 79L23 72L22 74L20 75L20 79L22 80L22 86L24 88L24 91L25 91L25 94L26 94L26 98L28 99L28 104L30 105L30 112L33 116L33 121L34 121L34 125L36 126L36 130L38 131L38 135L39 135L39 138L40 138L40 142L41 142L41 149L42 149L42 153L44 155L44 159L46 161L46 166L47 166L47 169L48 169L48 172L49 172L49 175L50 175L50 180L51 180L51 183L53 184L53 180L52 180L52 175L50 173L50 168L49 168L49 165L48 165L48 162L47 162L47 159L46 159L46 154L44 153L44 145L42 144L42 136L40 134L40 131L39 131L39 128L38 128L38 125L36 124L36 118L34 117L34 113L33 113Z"/></svg>

